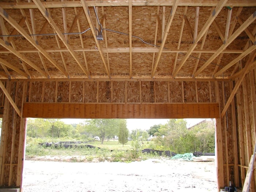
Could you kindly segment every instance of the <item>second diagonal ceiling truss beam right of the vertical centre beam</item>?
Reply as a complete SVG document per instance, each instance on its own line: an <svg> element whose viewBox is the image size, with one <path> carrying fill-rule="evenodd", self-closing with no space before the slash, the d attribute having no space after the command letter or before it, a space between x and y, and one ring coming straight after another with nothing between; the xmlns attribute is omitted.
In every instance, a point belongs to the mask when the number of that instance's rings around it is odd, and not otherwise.
<svg viewBox="0 0 256 192"><path fill-rule="evenodd" d="M178 66L178 68L174 71L173 76L176 76L178 71L180 71L180 69L183 67L183 65L185 64L185 62L187 61L188 57L191 55L191 53L193 52L193 50L196 48L197 43L199 42L199 40L203 37L203 35L206 33L206 31L209 29L211 23L214 21L214 19L218 16L219 12L221 12L222 8L224 7L224 5L226 4L227 0L220 0L218 5L215 7L215 9L211 12L211 15L209 16L209 18L207 19L206 23L204 24L202 30L200 31L200 33L198 34L198 36L195 39L194 44L189 48L187 54L183 57L183 59L181 60L180 65Z"/></svg>

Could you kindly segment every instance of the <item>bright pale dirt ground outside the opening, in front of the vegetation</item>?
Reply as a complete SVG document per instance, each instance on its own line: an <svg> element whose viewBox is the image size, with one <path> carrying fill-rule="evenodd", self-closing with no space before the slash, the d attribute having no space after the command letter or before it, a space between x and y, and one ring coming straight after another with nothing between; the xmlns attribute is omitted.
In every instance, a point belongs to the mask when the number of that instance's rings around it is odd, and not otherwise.
<svg viewBox="0 0 256 192"><path fill-rule="evenodd" d="M217 192L215 162L25 161L23 192Z"/></svg>

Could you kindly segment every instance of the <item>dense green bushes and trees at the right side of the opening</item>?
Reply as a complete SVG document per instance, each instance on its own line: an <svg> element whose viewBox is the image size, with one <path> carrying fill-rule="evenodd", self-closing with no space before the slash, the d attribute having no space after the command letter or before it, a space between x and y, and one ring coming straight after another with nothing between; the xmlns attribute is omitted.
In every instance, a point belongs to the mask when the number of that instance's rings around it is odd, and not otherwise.
<svg viewBox="0 0 256 192"><path fill-rule="evenodd" d="M215 130L212 121L203 121L190 129L183 119L171 119L161 125L155 133L156 150L170 150L175 153L213 153L215 145Z"/></svg>

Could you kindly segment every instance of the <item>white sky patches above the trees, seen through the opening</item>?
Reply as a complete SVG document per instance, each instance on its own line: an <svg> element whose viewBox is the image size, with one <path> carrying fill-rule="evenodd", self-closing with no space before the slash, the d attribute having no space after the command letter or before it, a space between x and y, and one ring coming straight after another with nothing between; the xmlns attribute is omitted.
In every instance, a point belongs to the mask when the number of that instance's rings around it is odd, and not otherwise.
<svg viewBox="0 0 256 192"><path fill-rule="evenodd" d="M66 124L78 124L83 122L85 119L62 119ZM153 125L166 124L169 119L127 119L127 128L129 131L134 129L147 130ZM205 120L204 118L186 118L187 127L191 127L200 121Z"/></svg>

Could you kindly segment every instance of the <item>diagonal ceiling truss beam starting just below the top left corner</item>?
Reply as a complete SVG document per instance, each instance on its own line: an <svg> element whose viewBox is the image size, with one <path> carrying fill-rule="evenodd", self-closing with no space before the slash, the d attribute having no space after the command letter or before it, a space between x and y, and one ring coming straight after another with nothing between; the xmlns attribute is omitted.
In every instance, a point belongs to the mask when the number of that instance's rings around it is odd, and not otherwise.
<svg viewBox="0 0 256 192"><path fill-rule="evenodd" d="M68 74L64 71L64 69L62 69L56 61L54 61L52 59L52 57L50 57L50 55L41 47L38 45L37 41L34 41L33 38L30 37L29 34L27 34L27 32L21 27L19 26L16 21L14 19L12 19L6 11L4 11L1 7L0 7L0 15L8 22L10 23L10 25L12 27L14 27L17 31L19 31L20 34L23 35L23 37L25 37L27 39L27 41L29 41L38 51L40 51L45 57L46 59L48 59L53 65L54 67L56 67L57 69L59 69L59 71L61 71L65 76L68 77Z"/></svg>

